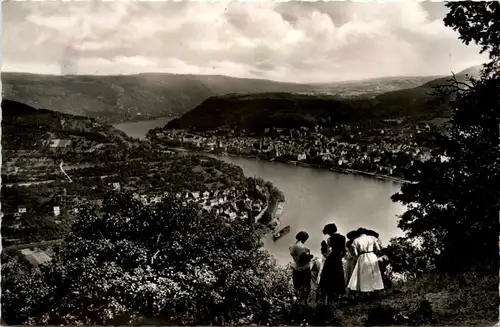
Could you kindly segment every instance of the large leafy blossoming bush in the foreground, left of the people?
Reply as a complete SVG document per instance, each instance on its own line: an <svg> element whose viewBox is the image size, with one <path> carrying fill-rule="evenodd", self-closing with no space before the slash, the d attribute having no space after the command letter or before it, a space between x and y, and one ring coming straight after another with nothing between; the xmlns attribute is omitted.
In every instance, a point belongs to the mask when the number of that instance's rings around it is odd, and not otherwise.
<svg viewBox="0 0 500 327"><path fill-rule="evenodd" d="M143 316L204 325L253 316L276 323L272 317L291 303L286 273L243 219L228 221L174 198L147 206L126 192L109 193L100 211L80 209L44 271L50 292L37 299L50 310L25 303L35 316L7 319L123 324Z"/></svg>

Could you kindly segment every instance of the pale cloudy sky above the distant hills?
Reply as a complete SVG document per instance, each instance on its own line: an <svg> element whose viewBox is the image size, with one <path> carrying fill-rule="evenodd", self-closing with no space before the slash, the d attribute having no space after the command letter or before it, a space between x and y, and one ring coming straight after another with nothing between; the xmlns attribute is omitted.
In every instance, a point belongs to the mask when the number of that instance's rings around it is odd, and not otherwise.
<svg viewBox="0 0 500 327"><path fill-rule="evenodd" d="M331 82L481 63L442 2L3 3L2 70Z"/></svg>

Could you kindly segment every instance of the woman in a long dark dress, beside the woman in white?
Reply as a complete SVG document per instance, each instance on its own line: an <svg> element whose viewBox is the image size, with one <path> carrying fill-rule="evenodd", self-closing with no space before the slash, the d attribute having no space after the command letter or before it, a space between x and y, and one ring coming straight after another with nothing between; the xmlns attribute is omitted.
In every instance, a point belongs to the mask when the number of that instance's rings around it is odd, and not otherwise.
<svg viewBox="0 0 500 327"><path fill-rule="evenodd" d="M344 267L342 258L346 254L345 236L337 233L335 224L323 228L323 234L328 235L327 257L321 271L319 286L329 304L334 304L345 293Z"/></svg>

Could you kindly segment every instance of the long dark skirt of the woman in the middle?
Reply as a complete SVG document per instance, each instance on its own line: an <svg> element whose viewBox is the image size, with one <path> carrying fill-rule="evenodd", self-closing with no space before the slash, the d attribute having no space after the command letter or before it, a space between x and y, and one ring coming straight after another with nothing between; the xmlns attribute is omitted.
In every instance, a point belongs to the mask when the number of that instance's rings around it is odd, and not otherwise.
<svg viewBox="0 0 500 327"><path fill-rule="evenodd" d="M327 296L345 293L344 266L342 258L328 257L325 260L319 287Z"/></svg>

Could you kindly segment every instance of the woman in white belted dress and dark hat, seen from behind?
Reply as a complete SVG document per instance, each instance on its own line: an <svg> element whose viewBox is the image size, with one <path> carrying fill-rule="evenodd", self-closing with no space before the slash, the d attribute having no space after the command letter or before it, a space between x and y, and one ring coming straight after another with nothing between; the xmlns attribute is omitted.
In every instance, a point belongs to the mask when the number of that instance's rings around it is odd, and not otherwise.
<svg viewBox="0 0 500 327"><path fill-rule="evenodd" d="M372 235L367 235L364 228L358 231L360 236L352 243L353 252L358 259L347 287L351 291L364 294L383 290L384 282L375 254L381 250L380 241Z"/></svg>

